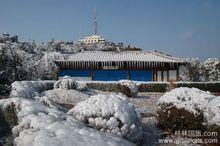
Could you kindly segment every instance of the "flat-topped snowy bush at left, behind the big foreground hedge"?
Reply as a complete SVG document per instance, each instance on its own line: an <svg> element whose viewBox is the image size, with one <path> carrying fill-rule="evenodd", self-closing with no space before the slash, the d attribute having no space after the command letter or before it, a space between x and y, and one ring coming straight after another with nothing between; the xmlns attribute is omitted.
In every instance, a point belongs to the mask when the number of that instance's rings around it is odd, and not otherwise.
<svg viewBox="0 0 220 146"><path fill-rule="evenodd" d="M55 81L15 81L10 97L33 98L40 92L53 88Z"/></svg>

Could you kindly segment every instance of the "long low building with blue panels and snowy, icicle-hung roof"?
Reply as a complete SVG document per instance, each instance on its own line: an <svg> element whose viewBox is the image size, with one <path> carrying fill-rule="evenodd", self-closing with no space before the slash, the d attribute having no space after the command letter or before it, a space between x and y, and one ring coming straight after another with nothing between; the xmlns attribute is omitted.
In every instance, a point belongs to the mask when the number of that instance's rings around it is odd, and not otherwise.
<svg viewBox="0 0 220 146"><path fill-rule="evenodd" d="M76 79L117 81L177 81L185 62L156 51L84 51L55 60L58 76Z"/></svg>

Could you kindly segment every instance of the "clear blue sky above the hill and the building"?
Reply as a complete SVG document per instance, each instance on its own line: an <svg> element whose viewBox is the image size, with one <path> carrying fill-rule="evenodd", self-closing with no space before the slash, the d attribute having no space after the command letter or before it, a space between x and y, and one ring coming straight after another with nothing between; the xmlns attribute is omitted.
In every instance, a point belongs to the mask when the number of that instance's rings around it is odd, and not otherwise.
<svg viewBox="0 0 220 146"><path fill-rule="evenodd" d="M220 0L0 0L0 33L21 40L107 40L178 57L220 58Z"/></svg>

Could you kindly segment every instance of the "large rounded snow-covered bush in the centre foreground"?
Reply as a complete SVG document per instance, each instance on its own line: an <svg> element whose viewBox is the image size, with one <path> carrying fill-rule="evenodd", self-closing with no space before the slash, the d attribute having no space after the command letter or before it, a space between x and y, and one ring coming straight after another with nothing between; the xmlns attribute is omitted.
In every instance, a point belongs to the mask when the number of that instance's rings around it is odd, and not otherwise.
<svg viewBox="0 0 220 146"><path fill-rule="evenodd" d="M100 131L136 142L142 138L141 117L123 94L98 94L78 103L69 114Z"/></svg>

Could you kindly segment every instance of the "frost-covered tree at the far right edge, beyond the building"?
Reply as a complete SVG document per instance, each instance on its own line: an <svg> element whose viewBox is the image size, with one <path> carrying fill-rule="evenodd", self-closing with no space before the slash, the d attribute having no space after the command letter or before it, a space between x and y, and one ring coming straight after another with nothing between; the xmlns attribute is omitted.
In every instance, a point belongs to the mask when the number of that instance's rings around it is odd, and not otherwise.
<svg viewBox="0 0 220 146"><path fill-rule="evenodd" d="M208 58L203 64L205 81L220 81L220 61L218 58Z"/></svg>

